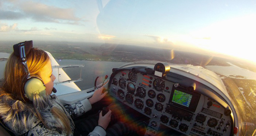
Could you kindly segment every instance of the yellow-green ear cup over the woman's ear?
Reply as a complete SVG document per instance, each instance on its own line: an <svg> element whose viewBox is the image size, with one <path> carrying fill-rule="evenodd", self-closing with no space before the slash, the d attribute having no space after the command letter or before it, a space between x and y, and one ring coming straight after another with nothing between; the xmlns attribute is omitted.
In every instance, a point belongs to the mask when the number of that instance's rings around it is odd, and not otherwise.
<svg viewBox="0 0 256 136"><path fill-rule="evenodd" d="M24 94L33 101L34 94L45 95L45 84L38 77L31 77L24 84Z"/></svg>

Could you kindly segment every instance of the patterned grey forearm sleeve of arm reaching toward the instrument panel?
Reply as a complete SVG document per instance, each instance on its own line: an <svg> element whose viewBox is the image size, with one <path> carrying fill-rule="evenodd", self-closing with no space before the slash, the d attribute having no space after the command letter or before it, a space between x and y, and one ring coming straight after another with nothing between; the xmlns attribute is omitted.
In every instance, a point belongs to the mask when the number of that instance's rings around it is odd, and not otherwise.
<svg viewBox="0 0 256 136"><path fill-rule="evenodd" d="M71 118L83 115L92 109L90 101L86 98L71 105L64 106Z"/></svg>

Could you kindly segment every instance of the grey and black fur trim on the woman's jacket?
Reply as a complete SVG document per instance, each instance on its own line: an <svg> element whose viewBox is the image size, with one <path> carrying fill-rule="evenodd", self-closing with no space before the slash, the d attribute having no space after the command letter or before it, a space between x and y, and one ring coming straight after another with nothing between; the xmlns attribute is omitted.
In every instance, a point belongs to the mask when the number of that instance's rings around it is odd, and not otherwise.
<svg viewBox="0 0 256 136"><path fill-rule="evenodd" d="M55 95L53 97L51 96L51 98L42 98L40 101L45 102L43 107L37 107L44 122L48 125L48 127L50 127L50 129L62 130L64 128L64 124L60 123L61 121L57 120L50 112L50 109L55 106L64 110L64 107L60 101ZM71 122L70 125L72 129L74 129L74 124L71 117L66 110L64 111ZM16 135L26 133L40 123L40 120L38 120L36 117L35 108L33 107L32 103L24 103L19 100L14 100L8 95L0 97L0 115L2 121Z"/></svg>

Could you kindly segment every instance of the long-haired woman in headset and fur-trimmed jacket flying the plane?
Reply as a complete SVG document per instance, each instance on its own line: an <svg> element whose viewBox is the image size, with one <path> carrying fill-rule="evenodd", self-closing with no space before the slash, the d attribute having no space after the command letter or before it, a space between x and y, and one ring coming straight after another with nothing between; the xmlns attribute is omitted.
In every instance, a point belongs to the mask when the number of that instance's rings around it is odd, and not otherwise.
<svg viewBox="0 0 256 136"><path fill-rule="evenodd" d="M100 101L107 92L102 93L103 88L97 89L90 99L85 98L64 107L55 95L50 95L56 77L52 75L49 56L32 46L32 41L16 44L14 52L9 56L4 79L0 84L1 120L15 135L76 135L71 117L78 117L90 110L91 105ZM39 85L35 85L35 82ZM31 91L33 87L36 87L36 91ZM76 109L75 105L82 109ZM82 110L84 112L78 112ZM100 112L97 117L96 125L92 129L83 128L83 131L89 131L90 136L114 135L111 134L113 130L108 132L111 127L107 129L111 110L104 116ZM115 134L123 135L121 131ZM79 133L86 134L81 131Z"/></svg>

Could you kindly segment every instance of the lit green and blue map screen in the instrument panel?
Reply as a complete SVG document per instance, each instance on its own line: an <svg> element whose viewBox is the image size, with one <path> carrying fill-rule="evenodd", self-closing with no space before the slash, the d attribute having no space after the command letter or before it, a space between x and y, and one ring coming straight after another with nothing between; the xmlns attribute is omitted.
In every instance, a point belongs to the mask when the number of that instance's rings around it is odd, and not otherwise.
<svg viewBox="0 0 256 136"><path fill-rule="evenodd" d="M178 91L176 89L174 90L172 102L189 107L191 99L192 99L191 94L187 94L182 91Z"/></svg>

